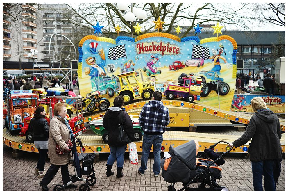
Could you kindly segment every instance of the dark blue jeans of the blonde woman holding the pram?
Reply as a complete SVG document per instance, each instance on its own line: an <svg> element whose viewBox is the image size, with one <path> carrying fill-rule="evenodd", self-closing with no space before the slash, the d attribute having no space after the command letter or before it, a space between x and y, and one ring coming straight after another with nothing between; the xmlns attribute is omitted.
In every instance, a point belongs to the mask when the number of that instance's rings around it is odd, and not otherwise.
<svg viewBox="0 0 288 194"><path fill-rule="evenodd" d="M262 176L264 176L265 191L275 191L273 178L274 160L263 160L252 162L253 186L254 191L263 191Z"/></svg>

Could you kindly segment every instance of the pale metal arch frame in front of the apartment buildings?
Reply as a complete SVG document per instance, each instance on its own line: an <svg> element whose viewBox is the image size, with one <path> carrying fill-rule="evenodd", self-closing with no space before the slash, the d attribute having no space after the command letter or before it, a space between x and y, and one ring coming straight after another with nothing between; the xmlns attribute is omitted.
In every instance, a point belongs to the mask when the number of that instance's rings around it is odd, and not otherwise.
<svg viewBox="0 0 288 194"><path fill-rule="evenodd" d="M36 48L37 48L37 46L38 46L38 43L39 43L42 39L44 39L44 38L46 38L46 37L48 37L48 36L51 36L51 38L50 38L50 40L49 40L49 65L50 65L50 68L51 68L51 80L52 80L52 70L59 70L59 71L61 70L61 71L65 74L65 76L62 78L62 80L71 72L71 80L69 80L69 82L70 82L70 85L72 86L72 65L71 65L70 68L61 68L61 59L60 59L59 68L53 68L54 60L53 60L53 63L51 64L51 41L52 41L52 37L53 37L53 36L56 36L56 37L57 37L58 35L66 38L67 40L69 40L69 42L71 43L71 45L74 47L74 52L71 52L71 53L74 53L74 54L75 54L75 59L74 59L74 60L76 60L76 58L77 58L77 52L76 52L76 48L75 48L73 42L72 42L68 37L66 37L65 35L62 35L62 34L55 34L55 33L53 33L53 34L49 34L49 35L44 36L43 38L41 38L41 39L37 42L37 44L36 44L36 46L35 46L35 50L36 50ZM69 45L69 46L71 47L71 45ZM65 46L67 46L67 45L65 45ZM64 46L63 46L63 48L64 48ZM58 52L58 51L57 51L57 52ZM59 52L61 52L61 51L59 51ZM33 57L34 57L34 60L35 60L35 55L34 55ZM35 60L35 61L36 61L36 60ZM36 65L37 65L38 68L40 68L40 67L38 66L37 61L36 61ZM67 73L65 73L63 70L69 70L69 71L68 71ZM68 76L67 76L67 77L68 77ZM60 80L60 82L61 82L62 80Z"/></svg>

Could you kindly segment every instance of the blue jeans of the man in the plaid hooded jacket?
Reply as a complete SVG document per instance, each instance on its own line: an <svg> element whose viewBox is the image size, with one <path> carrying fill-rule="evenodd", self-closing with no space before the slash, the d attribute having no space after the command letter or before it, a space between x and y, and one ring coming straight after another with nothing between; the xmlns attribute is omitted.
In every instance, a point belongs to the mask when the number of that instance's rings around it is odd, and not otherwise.
<svg viewBox="0 0 288 194"><path fill-rule="evenodd" d="M147 161L150 150L153 145L153 153L154 153L154 164L153 164L153 172L155 175L159 175L160 173L160 162L161 162L161 144L163 141L163 135L143 135L143 143L142 143L142 157L141 157L141 167L139 171L144 173L147 170Z"/></svg>

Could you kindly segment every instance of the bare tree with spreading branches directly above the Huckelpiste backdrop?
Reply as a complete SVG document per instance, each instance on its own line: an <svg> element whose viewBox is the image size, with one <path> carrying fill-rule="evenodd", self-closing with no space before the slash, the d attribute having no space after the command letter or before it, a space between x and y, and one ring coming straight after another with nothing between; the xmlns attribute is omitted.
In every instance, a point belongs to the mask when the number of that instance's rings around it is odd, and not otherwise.
<svg viewBox="0 0 288 194"><path fill-rule="evenodd" d="M97 21L104 26L99 36L116 38L115 27L121 27L121 35L131 34L131 23L126 22L124 14L117 7L117 3L79 3L78 6L68 4L70 14L68 21L83 32L93 33ZM131 7L131 5L129 5ZM249 29L247 20L257 20L251 16L249 3L239 3L237 7L228 3L134 3L134 7L144 9L147 17L139 22L142 26L139 35L157 32L153 21L160 17L164 21L162 32L173 33L174 27L180 25L183 29L182 37L191 33L199 24L228 24L234 28ZM130 8L129 8L130 9ZM142 25L141 25L142 24ZM133 26L135 26L135 22ZM134 35L137 35L133 31ZM182 38L181 37L181 38Z"/></svg>

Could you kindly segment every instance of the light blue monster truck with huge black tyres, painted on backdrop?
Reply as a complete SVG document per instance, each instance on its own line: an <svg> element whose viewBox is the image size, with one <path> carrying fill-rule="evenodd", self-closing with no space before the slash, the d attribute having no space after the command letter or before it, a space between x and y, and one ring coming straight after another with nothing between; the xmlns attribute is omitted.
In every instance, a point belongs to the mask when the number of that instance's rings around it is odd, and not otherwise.
<svg viewBox="0 0 288 194"><path fill-rule="evenodd" d="M223 82L224 79L218 77L216 72L213 71L200 71L200 72L191 72L189 76L192 77L200 77L203 82L203 88L201 89L202 97L206 97L209 95L211 90L214 90L219 95L226 95L228 94L230 87L227 83ZM218 84L218 89L217 89ZM219 91L219 92L218 92Z"/></svg>

